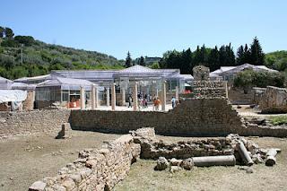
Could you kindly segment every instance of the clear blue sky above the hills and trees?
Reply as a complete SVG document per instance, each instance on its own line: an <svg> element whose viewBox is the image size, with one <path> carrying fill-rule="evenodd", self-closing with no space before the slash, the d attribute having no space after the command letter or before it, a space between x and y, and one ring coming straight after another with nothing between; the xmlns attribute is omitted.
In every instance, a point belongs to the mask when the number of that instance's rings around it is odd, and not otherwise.
<svg viewBox="0 0 287 191"><path fill-rule="evenodd" d="M118 59L203 44L236 51L256 36L268 53L287 49L286 7L285 0L9 0L0 4L0 26Z"/></svg>

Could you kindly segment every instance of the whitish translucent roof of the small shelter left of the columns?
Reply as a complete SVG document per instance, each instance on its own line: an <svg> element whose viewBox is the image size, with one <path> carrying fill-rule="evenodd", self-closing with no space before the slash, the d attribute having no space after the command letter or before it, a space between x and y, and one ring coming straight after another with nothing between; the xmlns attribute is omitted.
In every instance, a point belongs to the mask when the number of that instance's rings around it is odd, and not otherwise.
<svg viewBox="0 0 287 191"><path fill-rule="evenodd" d="M83 87L86 91L87 90L89 91L89 90L91 90L92 84L94 84L94 83L86 81L86 80L81 80L81 79L55 77L55 78L47 80L45 82L40 82L37 85L37 88L60 87L61 90L78 91L78 90L80 90L81 87Z"/></svg>

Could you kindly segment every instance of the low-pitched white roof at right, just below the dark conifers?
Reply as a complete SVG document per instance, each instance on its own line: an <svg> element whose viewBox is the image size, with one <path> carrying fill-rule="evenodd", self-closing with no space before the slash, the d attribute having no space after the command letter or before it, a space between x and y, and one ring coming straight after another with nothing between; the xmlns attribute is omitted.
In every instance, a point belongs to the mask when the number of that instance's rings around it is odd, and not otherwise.
<svg viewBox="0 0 287 191"><path fill-rule="evenodd" d="M254 71L266 71L266 72L278 72L276 70L267 68L265 65L238 65L238 66L222 66L220 69L213 71L210 73L210 77L216 77L220 75L228 75L228 74L237 74L245 69L252 69Z"/></svg>

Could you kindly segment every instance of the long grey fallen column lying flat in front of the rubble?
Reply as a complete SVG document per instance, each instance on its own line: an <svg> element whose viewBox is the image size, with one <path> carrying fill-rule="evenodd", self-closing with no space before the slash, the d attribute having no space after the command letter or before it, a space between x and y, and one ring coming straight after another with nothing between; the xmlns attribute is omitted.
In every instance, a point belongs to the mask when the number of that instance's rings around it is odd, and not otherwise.
<svg viewBox="0 0 287 191"><path fill-rule="evenodd" d="M192 160L197 167L234 166L236 164L234 155L193 157Z"/></svg>

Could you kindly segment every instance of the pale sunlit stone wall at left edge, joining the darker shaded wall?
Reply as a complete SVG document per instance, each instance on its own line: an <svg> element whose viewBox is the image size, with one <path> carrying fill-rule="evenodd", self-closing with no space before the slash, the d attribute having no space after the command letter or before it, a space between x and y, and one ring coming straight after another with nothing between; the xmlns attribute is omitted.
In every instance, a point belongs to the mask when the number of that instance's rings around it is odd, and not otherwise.
<svg viewBox="0 0 287 191"><path fill-rule="evenodd" d="M70 112L67 109L0 112L0 139L37 133L57 135L61 125L68 122Z"/></svg>

